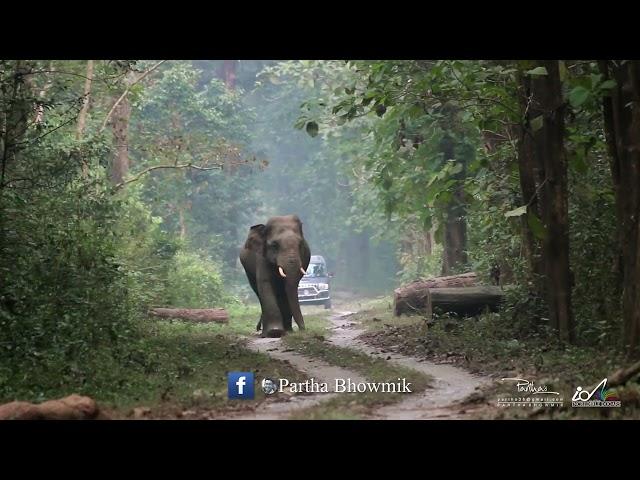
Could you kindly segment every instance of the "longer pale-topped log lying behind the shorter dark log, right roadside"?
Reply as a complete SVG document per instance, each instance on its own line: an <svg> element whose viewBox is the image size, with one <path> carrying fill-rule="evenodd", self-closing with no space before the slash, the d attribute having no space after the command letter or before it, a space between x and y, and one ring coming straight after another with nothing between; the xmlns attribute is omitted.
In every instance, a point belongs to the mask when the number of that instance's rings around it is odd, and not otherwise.
<svg viewBox="0 0 640 480"><path fill-rule="evenodd" d="M394 291L393 313L396 317L403 313L424 313L427 308L429 289L471 287L476 284L477 280L478 277L474 272L449 277L415 280Z"/></svg>

